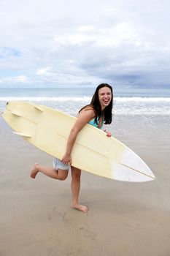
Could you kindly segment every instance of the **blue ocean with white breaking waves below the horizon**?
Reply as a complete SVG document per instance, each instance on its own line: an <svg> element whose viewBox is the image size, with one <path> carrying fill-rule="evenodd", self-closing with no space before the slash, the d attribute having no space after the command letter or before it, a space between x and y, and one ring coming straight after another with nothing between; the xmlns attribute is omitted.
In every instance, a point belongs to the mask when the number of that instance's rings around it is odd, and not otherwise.
<svg viewBox="0 0 170 256"><path fill-rule="evenodd" d="M0 111L6 102L24 100L47 105L76 116L90 103L95 88L0 88ZM170 89L134 89L114 92L113 113L118 116L170 116Z"/></svg>

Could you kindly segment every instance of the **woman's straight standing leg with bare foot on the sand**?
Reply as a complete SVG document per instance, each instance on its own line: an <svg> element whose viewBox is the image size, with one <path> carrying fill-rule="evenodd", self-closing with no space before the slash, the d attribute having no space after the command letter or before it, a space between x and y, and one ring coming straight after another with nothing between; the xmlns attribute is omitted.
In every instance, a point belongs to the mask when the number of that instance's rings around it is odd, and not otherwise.
<svg viewBox="0 0 170 256"><path fill-rule="evenodd" d="M80 193L80 176L81 176L81 170L77 169L76 167L72 167L72 183L71 183L72 207L76 208L80 211L87 212L88 207L87 206L82 206L78 202L79 193Z"/></svg>

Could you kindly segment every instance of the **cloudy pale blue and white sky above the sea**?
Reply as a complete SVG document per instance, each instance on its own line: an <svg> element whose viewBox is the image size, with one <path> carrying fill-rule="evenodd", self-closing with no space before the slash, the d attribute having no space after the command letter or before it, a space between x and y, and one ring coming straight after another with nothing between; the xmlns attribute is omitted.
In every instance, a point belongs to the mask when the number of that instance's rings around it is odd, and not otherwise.
<svg viewBox="0 0 170 256"><path fill-rule="evenodd" d="M170 86L169 0L0 0L0 86Z"/></svg>

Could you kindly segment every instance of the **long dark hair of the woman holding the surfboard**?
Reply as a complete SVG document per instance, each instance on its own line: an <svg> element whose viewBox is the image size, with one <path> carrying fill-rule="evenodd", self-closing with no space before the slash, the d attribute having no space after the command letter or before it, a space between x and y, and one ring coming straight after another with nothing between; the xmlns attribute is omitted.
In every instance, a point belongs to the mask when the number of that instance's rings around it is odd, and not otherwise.
<svg viewBox="0 0 170 256"><path fill-rule="evenodd" d="M101 89L103 87L108 87L112 92L112 86L109 86L108 83L99 84L99 86L97 86L97 88L96 88L95 93L93 94L93 97L91 99L90 104L86 105L81 110L83 110L84 108L87 108L88 106L92 107L94 112L95 112L95 122L96 122L96 124L98 124L98 118L100 118L101 116L104 117L104 124L111 124L112 123L113 94L112 94L112 99L109 102L109 105L106 108L104 108L104 111L102 111L101 110L101 105L100 105L100 102L99 102L99 99L98 99L98 91L99 91L99 89ZM80 111L79 111L79 113L80 113Z"/></svg>

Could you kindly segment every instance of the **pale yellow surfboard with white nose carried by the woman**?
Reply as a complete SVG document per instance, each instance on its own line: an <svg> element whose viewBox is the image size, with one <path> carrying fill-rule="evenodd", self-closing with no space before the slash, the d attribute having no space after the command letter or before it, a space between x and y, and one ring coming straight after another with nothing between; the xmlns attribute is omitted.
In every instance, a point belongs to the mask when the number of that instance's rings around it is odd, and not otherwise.
<svg viewBox="0 0 170 256"><path fill-rule="evenodd" d="M30 102L7 102L2 113L7 124L42 151L62 159L69 132L76 117ZM116 138L86 124L72 149L72 165L98 176L117 181L153 181L150 167Z"/></svg>

